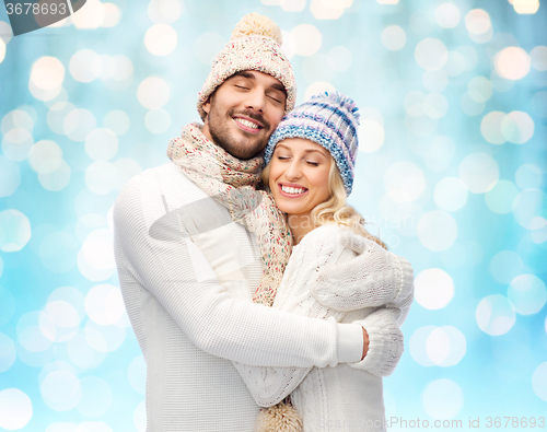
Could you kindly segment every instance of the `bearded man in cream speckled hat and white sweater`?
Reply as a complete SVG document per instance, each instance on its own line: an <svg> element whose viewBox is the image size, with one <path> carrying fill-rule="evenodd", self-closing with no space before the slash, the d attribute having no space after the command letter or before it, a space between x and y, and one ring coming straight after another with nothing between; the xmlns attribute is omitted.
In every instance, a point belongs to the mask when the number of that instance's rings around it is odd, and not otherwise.
<svg viewBox="0 0 547 432"><path fill-rule="evenodd" d="M197 161L222 154L237 165L229 172L255 166L254 156L294 105L294 92L278 42L236 35L199 95L202 130L188 125L183 138L189 147L171 151L194 152ZM324 367L364 358L368 338L357 324L249 301L263 272L255 236L177 164L131 179L116 201L114 223L120 288L147 363L148 431L253 431L259 408L231 361ZM207 242L217 252L209 260L197 246Z"/></svg>

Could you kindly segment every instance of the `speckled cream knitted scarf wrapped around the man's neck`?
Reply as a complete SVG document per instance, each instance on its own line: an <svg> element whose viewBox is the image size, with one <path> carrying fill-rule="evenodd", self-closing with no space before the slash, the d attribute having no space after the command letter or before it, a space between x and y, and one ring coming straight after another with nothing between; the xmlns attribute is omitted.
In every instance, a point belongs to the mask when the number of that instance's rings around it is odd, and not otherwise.
<svg viewBox="0 0 547 432"><path fill-rule="evenodd" d="M209 141L201 128L199 124L187 125L181 138L170 141L167 156L201 190L224 206L234 222L256 235L263 277L253 302L271 306L291 255L289 225L274 197L255 189L263 159L241 161Z"/></svg>

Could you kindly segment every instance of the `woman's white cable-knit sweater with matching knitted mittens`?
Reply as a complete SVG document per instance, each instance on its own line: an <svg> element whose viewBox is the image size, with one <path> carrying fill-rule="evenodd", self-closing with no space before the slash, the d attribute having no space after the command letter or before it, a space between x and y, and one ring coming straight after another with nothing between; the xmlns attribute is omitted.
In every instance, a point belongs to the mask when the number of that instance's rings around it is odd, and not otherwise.
<svg viewBox="0 0 547 432"><path fill-rule="evenodd" d="M393 373L403 354L399 325L412 302L412 282L408 261L373 241L338 225L309 233L293 248L274 307L360 320L369 351L360 363L325 369L235 363L257 404L271 406L291 394L305 432L384 430L382 376Z"/></svg>

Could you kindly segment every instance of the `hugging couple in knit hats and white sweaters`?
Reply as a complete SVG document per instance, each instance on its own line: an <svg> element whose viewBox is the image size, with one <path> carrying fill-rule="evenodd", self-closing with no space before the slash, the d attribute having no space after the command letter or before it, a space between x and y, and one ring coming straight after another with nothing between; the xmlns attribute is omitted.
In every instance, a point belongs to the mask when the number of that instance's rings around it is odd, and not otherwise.
<svg viewBox="0 0 547 432"><path fill-rule="evenodd" d="M336 92L294 108L280 35L242 19L199 94L203 124L115 205L149 432L385 430L412 269L346 203L358 108Z"/></svg>

